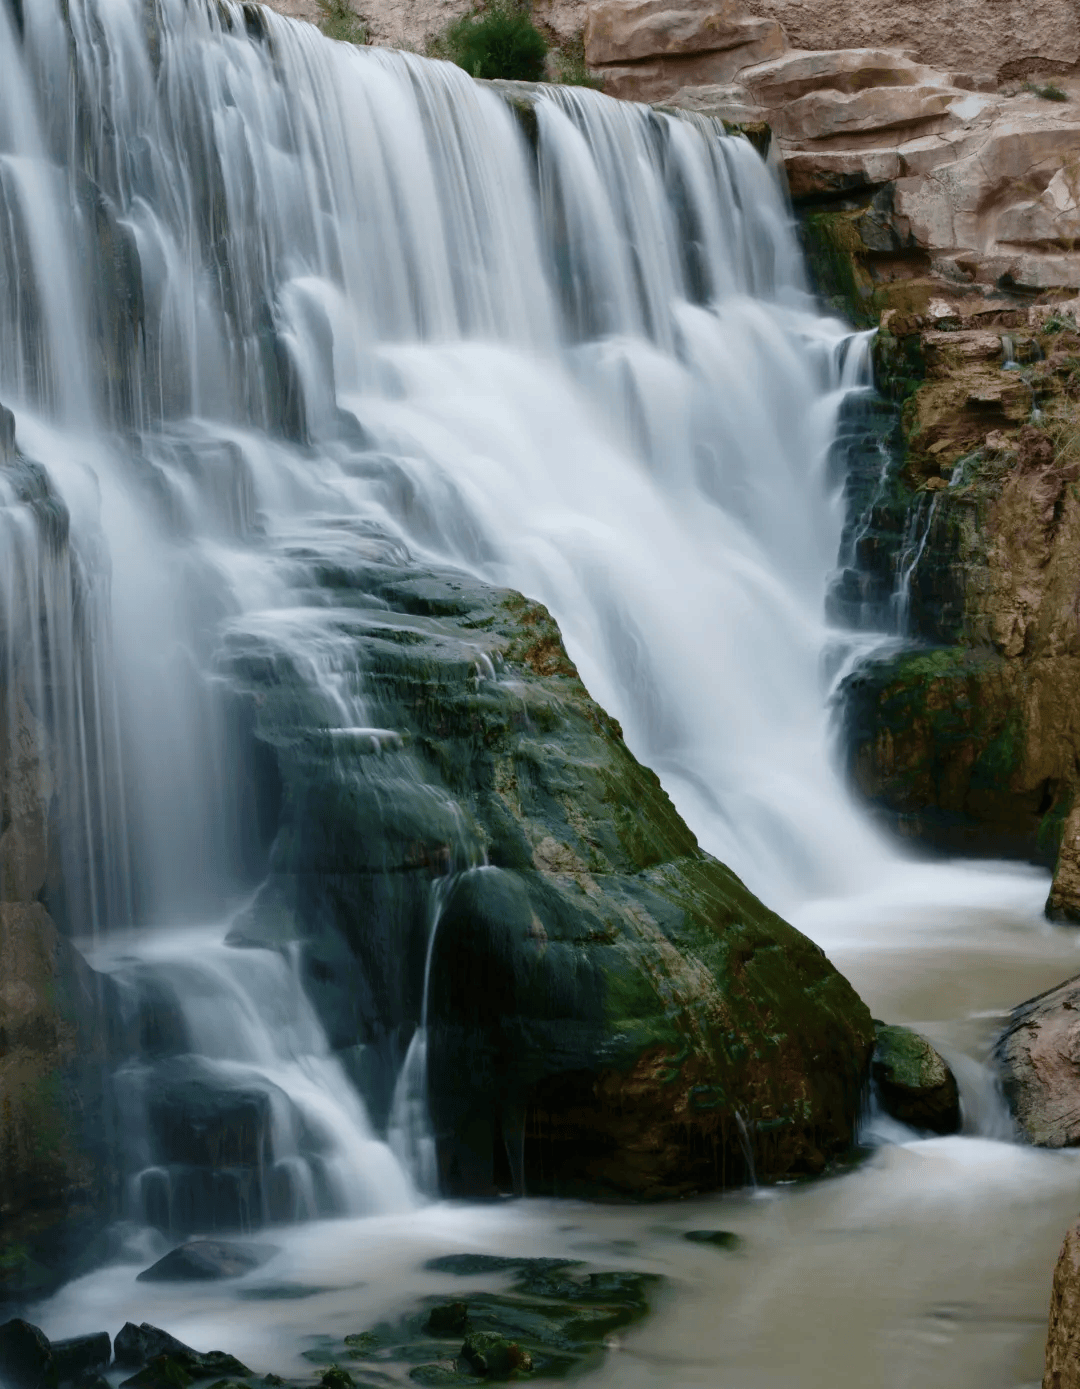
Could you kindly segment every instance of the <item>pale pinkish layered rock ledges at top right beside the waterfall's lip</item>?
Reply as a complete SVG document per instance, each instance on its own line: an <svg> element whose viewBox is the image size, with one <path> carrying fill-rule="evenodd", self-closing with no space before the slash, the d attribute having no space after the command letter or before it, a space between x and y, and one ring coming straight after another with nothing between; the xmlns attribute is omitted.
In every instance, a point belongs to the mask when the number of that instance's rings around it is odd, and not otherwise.
<svg viewBox="0 0 1080 1389"><path fill-rule="evenodd" d="M979 85L901 50L790 50L665 100L773 128L795 206L825 219L818 231L840 250L862 246L855 288L866 311L884 307L870 303L879 286L912 278L933 276L943 290L1080 286L1072 82Z"/></svg>

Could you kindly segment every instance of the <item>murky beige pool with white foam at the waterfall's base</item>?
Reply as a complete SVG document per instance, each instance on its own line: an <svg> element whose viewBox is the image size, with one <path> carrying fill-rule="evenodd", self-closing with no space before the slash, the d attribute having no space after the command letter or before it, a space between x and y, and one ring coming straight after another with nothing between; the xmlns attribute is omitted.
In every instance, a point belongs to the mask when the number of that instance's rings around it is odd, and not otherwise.
<svg viewBox="0 0 1080 1389"><path fill-rule="evenodd" d="M167 1247L144 1238L129 1263L68 1285L33 1315L54 1335L146 1320L258 1371L310 1375L300 1351L319 1333L364 1331L423 1296L491 1289L490 1275L426 1272L432 1256L554 1256L664 1278L648 1318L611 1343L590 1385L1038 1385L1080 1154L1013 1139L987 1060L1004 1014L1080 965L1080 938L1041 915L1045 892L1036 870L912 863L862 897L795 914L876 1015L919 1028L948 1057L963 1099L958 1136L925 1139L869 1115L862 1160L820 1181L666 1206L440 1201L275 1228L262 1238L278 1256L212 1290L136 1282ZM693 1229L732 1231L743 1245L687 1242ZM289 1299L267 1296L282 1285Z"/></svg>

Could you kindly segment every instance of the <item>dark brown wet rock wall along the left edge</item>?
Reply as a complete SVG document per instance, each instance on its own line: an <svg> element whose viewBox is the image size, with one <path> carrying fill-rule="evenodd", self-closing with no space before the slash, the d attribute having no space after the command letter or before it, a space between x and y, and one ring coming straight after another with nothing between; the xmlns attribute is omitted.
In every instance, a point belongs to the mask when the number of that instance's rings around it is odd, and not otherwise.
<svg viewBox="0 0 1080 1389"><path fill-rule="evenodd" d="M0 543L26 526L42 554L65 558L67 510L19 454L0 406ZM64 572L57 563L42 586ZM42 608L29 590L10 599L0 621L0 1304L62 1278L111 1217L117 1179L106 1146L110 985L42 901L62 899L57 825L71 800L43 682L22 661L43 640L26 632Z"/></svg>

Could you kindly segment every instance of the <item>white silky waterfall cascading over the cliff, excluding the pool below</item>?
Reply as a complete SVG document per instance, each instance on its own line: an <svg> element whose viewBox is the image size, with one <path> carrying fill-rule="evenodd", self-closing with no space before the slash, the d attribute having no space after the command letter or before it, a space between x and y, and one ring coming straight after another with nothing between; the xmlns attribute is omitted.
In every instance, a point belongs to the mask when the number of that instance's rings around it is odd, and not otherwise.
<svg viewBox="0 0 1080 1389"><path fill-rule="evenodd" d="M544 601L702 846L770 904L870 878L887 850L832 767L822 668L829 447L866 343L818 315L751 146L254 6L19 15L0 0L0 400L67 529L3 476L0 614L10 646L19 594L40 604L24 683L83 836L47 889L65 928L222 920L257 882L237 643L287 658L341 758L396 747L354 638L310 600L361 539ZM218 932L201 964L151 967L151 936L115 965L132 988L164 971L182 1018L204 996L254 1010L230 1049L190 1018L175 1046L262 1075L289 1210L375 1200L312 1195L328 1145L404 1199L366 1115L312 1097L343 1083L314 1018L287 1054L258 1040L280 957L242 970ZM391 1120L421 1172L423 1046L421 1017Z"/></svg>

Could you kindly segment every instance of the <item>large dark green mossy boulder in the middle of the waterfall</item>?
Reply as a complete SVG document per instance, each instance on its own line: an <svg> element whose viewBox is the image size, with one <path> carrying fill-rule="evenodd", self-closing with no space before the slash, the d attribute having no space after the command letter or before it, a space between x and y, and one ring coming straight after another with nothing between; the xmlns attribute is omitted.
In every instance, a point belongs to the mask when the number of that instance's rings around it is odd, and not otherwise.
<svg viewBox="0 0 1080 1389"><path fill-rule="evenodd" d="M869 1015L701 853L546 610L375 554L322 576L371 728L346 756L283 658L237 653L286 788L271 879L237 936L304 940L307 986L360 1054L376 1122L437 921L444 1190L739 1183L743 1126L759 1176L820 1171L851 1139Z"/></svg>

